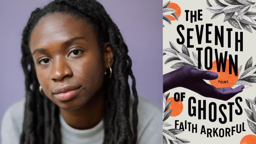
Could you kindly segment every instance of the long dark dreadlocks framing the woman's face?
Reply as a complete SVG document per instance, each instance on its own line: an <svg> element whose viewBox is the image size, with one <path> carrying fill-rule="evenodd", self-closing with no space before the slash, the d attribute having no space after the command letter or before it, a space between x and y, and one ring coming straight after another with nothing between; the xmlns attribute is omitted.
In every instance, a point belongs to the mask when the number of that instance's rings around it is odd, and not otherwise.
<svg viewBox="0 0 256 144"><path fill-rule="evenodd" d="M26 102L23 131L20 144L60 144L59 109L46 96L39 93L39 82L29 48L30 35L38 21L46 14L61 12L82 18L93 27L97 27L100 49L102 44L110 42L114 53L113 76L106 80L104 101L104 142L103 144L135 144L137 142L138 95L136 82L131 70L132 61L128 49L116 24L101 4L95 0L54 0L42 9L32 11L22 34L22 68L25 73ZM129 122L130 86L128 76L132 78L134 97L132 124ZM105 80L104 80L105 81ZM132 125L132 126L131 126Z"/></svg>

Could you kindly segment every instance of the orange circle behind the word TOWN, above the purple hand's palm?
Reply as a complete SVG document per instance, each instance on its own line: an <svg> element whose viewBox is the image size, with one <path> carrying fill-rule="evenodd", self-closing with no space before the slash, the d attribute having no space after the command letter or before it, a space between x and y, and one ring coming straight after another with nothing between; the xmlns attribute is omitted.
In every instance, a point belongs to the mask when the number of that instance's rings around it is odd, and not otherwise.
<svg viewBox="0 0 256 144"><path fill-rule="evenodd" d="M226 87L234 86L235 83L237 82L238 75L239 75L238 71L237 71L237 76L235 75L233 68L232 68L232 74L229 74L229 59L227 59L226 61L225 72L222 72L222 66L221 66L220 72L217 72L216 60L212 62L212 69L209 71L216 72L219 75L217 79L209 80L210 83L216 88L226 88Z"/></svg>

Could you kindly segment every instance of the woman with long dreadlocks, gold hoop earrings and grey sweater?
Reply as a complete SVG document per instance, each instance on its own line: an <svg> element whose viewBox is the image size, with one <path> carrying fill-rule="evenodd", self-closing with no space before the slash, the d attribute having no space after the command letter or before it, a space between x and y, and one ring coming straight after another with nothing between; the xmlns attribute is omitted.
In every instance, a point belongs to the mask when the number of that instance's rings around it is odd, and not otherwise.
<svg viewBox="0 0 256 144"><path fill-rule="evenodd" d="M55 0L32 12L22 36L26 100L5 113L3 144L162 142L161 109L138 98L127 46L102 5Z"/></svg>

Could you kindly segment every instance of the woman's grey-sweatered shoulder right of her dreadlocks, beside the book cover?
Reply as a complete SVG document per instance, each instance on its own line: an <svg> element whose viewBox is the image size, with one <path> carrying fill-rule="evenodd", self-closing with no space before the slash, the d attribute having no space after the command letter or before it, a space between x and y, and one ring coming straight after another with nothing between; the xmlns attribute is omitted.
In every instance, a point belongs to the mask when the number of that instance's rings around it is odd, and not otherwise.
<svg viewBox="0 0 256 144"><path fill-rule="evenodd" d="M162 108L145 98L138 97L138 143L162 143ZM130 110L134 101L131 95ZM132 115L130 111L130 115ZM130 117L131 120L131 117ZM132 122L131 122L132 123Z"/></svg>

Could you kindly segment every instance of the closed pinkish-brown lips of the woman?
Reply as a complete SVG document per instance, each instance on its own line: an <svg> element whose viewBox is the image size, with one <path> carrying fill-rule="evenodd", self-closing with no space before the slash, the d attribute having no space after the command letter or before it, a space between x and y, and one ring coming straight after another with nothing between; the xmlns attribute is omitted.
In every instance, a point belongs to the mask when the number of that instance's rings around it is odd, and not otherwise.
<svg viewBox="0 0 256 144"><path fill-rule="evenodd" d="M66 89L63 93L58 93L58 94L53 93L53 95L55 96L55 98L61 101L70 100L81 91L81 88L82 87L71 88L68 91Z"/></svg>

